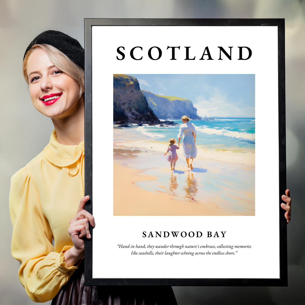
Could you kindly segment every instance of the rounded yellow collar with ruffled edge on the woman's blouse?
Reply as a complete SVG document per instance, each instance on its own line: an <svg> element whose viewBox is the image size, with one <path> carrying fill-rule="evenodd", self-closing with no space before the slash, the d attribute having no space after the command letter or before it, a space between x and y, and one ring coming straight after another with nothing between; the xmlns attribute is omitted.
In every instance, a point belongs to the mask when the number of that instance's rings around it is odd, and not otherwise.
<svg viewBox="0 0 305 305"><path fill-rule="evenodd" d="M56 132L53 130L49 144L43 150L45 158L59 167L67 167L75 163L80 156L84 155L85 142L79 145L63 145L56 140Z"/></svg>

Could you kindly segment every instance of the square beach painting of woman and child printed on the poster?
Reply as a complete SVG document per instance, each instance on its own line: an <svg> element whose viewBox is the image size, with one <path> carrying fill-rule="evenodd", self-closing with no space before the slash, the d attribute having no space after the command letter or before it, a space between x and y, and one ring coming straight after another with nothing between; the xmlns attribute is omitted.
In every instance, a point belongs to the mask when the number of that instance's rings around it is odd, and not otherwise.
<svg viewBox="0 0 305 305"><path fill-rule="evenodd" d="M254 81L114 74L113 214L255 215ZM183 134L184 115L196 134ZM188 147L183 138L195 135Z"/></svg>

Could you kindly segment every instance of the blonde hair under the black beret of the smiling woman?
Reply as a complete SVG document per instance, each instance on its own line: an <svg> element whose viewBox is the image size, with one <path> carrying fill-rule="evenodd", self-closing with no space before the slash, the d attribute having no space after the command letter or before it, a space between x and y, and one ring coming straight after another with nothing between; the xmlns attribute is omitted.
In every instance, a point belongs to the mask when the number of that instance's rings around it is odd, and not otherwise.
<svg viewBox="0 0 305 305"><path fill-rule="evenodd" d="M62 70L64 73L68 74L71 76L74 81L77 82L77 84L80 87L80 95L84 92L85 88L85 72L84 70L78 66L76 63L74 63L68 56L63 54L59 49L53 47L52 45L33 45L32 48L27 52L26 56L23 59L23 64L22 64L22 72L23 72L23 77L27 84L29 84L29 79L27 77L27 61L29 59L29 56L33 53L33 51L37 48L43 49L49 59L51 60L51 63L56 66L59 70Z"/></svg>

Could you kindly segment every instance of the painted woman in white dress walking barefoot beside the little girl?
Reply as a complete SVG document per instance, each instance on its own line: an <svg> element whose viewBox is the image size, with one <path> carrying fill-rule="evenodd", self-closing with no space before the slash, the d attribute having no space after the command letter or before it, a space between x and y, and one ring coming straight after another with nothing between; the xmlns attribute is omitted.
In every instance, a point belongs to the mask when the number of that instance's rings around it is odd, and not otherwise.
<svg viewBox="0 0 305 305"><path fill-rule="evenodd" d="M195 145L196 142L196 128L195 125L190 123L189 120L190 118L186 115L181 117L182 120L182 125L180 126L179 129L179 134L178 134L178 145L180 143L181 137L183 136L183 156L186 158L186 163L188 165L188 168L191 167L191 170L193 169L193 160L197 156L197 148ZM191 158L191 163L189 163L189 159Z"/></svg>

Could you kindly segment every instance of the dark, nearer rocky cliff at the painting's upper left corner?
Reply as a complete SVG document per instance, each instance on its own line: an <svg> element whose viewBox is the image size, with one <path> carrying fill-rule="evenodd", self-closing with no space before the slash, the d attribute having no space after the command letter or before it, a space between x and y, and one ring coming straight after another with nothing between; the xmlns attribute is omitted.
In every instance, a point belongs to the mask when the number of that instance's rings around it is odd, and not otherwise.
<svg viewBox="0 0 305 305"><path fill-rule="evenodd" d="M135 77L113 74L113 123L154 124L160 122L149 107Z"/></svg>

